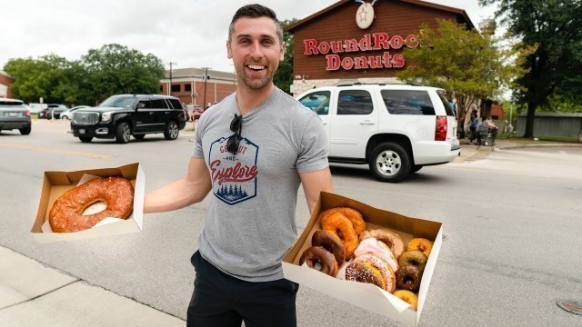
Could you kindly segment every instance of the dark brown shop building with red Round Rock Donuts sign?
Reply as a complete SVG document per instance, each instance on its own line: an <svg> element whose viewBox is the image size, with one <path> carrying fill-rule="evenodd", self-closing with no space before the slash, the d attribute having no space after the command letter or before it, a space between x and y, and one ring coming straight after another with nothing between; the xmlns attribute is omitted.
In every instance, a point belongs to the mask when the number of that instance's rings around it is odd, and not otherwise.
<svg viewBox="0 0 582 327"><path fill-rule="evenodd" d="M293 94L346 83L398 83L405 47L437 19L474 25L467 13L419 0L341 0L286 28L294 36Z"/></svg>

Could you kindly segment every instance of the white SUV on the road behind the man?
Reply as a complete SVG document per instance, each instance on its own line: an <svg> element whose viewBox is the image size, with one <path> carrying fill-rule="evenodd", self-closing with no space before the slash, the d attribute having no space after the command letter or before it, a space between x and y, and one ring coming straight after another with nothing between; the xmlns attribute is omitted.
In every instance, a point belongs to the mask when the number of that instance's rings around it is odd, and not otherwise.
<svg viewBox="0 0 582 327"><path fill-rule="evenodd" d="M297 99L319 114L330 163L368 163L378 180L396 183L460 153L457 118L444 93L410 84L348 84Z"/></svg>

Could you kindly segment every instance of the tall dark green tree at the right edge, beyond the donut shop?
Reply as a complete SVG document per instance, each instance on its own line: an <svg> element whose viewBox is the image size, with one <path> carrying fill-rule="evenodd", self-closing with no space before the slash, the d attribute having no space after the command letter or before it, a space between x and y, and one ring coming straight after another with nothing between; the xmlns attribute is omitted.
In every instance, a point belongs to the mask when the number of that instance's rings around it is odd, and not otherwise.
<svg viewBox="0 0 582 327"><path fill-rule="evenodd" d="M582 2L580 0L479 0L480 5L498 4L497 15L524 46L537 45L523 67L528 70L517 80L515 94L527 104L526 133L534 136L537 107L551 95L576 98L582 91Z"/></svg>

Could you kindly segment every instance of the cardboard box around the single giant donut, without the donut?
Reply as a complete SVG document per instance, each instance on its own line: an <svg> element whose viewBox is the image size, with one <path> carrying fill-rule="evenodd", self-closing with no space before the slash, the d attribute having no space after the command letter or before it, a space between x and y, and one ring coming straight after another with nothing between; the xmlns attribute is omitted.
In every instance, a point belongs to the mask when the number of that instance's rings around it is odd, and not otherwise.
<svg viewBox="0 0 582 327"><path fill-rule="evenodd" d="M134 186L134 209L125 220L106 223L75 233L51 233L43 231L48 225L48 215L55 200L61 194L74 188L87 175L98 177L124 177ZM144 195L146 176L139 163L130 163L115 168L97 168L75 172L45 172L42 192L38 204L35 223L30 233L39 243L85 240L91 238L141 232L144 220ZM84 212L85 214L85 212ZM43 226L45 225L45 226Z"/></svg>

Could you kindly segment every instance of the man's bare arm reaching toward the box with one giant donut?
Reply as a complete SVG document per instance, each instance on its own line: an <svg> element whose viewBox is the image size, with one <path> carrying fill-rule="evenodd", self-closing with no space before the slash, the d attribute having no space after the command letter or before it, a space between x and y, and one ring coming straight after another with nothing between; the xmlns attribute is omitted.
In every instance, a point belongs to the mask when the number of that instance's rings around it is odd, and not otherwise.
<svg viewBox="0 0 582 327"><path fill-rule="evenodd" d="M183 179L146 193L144 213L168 212L199 203L211 188L210 174L204 159L191 158Z"/></svg>

